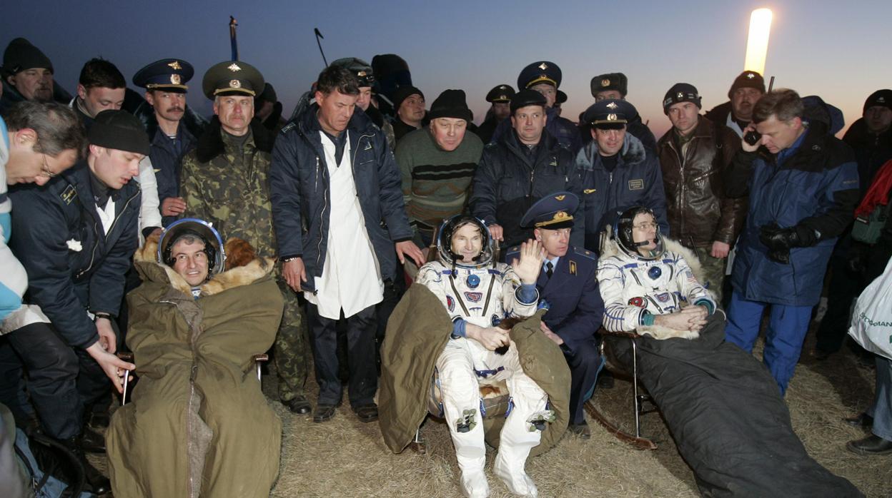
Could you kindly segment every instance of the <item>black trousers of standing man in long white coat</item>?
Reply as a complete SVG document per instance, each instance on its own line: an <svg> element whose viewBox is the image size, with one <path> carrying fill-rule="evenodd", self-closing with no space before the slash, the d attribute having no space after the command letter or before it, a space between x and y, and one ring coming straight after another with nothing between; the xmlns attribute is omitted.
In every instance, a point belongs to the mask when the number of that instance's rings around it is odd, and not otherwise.
<svg viewBox="0 0 892 498"><path fill-rule="evenodd" d="M346 319L347 365L350 370L348 390L350 404L360 406L372 403L378 388L375 368L376 306ZM338 378L337 320L321 316L318 307L307 303L307 319L310 342L313 347L313 363L316 365L316 381L319 385L319 404L341 403L342 387Z"/></svg>

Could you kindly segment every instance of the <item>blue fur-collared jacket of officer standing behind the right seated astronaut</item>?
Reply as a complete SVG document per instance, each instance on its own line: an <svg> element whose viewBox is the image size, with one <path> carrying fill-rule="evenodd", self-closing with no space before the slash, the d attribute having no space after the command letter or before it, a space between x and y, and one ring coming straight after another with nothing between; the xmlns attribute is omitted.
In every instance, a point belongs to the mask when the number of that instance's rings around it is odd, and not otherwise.
<svg viewBox="0 0 892 498"><path fill-rule="evenodd" d="M651 208L657 215L660 231L669 235L663 170L657 152L646 149L639 139L626 133L618 154L612 173L604 168L598 141L592 140L576 154L585 205L585 249L595 252L599 250L599 233L633 206Z"/></svg>

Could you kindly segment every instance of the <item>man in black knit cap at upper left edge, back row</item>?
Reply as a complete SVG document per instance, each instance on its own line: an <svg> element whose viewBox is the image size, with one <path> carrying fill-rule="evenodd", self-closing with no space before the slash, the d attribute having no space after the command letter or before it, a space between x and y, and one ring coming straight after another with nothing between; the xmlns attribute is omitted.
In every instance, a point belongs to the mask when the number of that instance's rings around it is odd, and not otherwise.
<svg viewBox="0 0 892 498"><path fill-rule="evenodd" d="M3 54L3 96L0 114L6 114L16 102L68 102L71 96L58 89L54 93L53 62L25 38L15 38Z"/></svg>

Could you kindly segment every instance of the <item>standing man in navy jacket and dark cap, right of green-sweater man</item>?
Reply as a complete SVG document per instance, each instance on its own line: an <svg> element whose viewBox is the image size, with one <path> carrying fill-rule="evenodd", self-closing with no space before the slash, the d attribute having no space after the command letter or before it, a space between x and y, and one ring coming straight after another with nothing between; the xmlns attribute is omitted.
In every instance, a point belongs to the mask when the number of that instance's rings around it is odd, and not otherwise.
<svg viewBox="0 0 892 498"><path fill-rule="evenodd" d="M474 176L471 213L483 220L492 238L508 248L533 237L520 219L534 202L569 190L582 197L574 154L549 133L545 96L525 89L511 97L511 128L483 149ZM574 244L585 230L576 218Z"/></svg>

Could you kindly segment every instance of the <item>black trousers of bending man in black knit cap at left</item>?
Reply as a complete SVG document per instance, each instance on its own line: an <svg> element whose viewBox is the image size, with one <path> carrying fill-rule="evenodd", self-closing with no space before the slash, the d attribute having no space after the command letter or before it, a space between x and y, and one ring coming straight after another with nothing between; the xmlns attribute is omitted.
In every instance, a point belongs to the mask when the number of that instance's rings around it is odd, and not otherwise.
<svg viewBox="0 0 892 498"><path fill-rule="evenodd" d="M99 363L70 347L50 323L32 323L7 337L28 372L28 393L46 433L57 439L80 434L84 407L108 396L111 386Z"/></svg>

